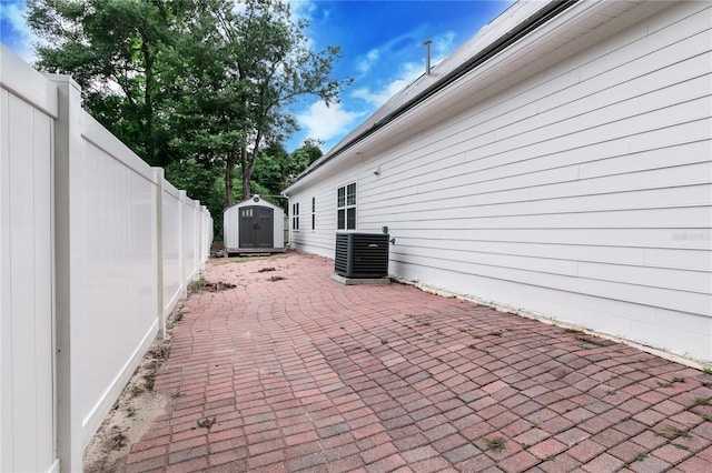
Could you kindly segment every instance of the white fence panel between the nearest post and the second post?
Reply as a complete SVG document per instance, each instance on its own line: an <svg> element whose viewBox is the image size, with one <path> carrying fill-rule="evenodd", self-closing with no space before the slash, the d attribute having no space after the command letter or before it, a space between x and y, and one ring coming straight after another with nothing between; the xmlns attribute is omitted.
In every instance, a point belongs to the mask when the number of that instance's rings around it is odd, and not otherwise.
<svg viewBox="0 0 712 473"><path fill-rule="evenodd" d="M69 185L71 316L88 443L158 332L154 171L81 112Z"/></svg>

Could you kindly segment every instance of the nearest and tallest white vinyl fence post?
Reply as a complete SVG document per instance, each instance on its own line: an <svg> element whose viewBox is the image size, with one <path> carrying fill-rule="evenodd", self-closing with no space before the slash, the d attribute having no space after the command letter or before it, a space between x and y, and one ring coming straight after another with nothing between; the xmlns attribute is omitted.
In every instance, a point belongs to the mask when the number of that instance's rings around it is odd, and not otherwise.
<svg viewBox="0 0 712 473"><path fill-rule="evenodd" d="M67 76L48 76L59 91L59 115L55 125L55 228L56 228L56 340L57 340L57 453L62 471L82 470L82 419L79 353L73 342L79 336L72 324L71 300L71 193L76 173L73 158L82 152L79 121L81 91Z"/></svg>

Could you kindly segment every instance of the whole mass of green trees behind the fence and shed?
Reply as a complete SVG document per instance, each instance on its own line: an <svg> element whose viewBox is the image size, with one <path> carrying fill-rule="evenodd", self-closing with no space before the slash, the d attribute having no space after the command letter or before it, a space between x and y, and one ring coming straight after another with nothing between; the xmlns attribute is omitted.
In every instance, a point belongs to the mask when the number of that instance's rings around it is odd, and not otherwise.
<svg viewBox="0 0 712 473"><path fill-rule="evenodd" d="M278 194L320 155L276 144L296 130L289 107L349 83L330 76L339 48L313 51L284 0L29 0L28 24L37 66L71 74L99 122L208 205L216 234L226 205Z"/></svg>

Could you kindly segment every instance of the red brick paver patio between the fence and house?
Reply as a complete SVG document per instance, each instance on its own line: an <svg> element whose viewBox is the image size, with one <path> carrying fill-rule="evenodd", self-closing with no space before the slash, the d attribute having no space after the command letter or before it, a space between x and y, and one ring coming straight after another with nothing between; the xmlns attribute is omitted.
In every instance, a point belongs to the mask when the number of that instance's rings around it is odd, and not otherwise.
<svg viewBox="0 0 712 473"><path fill-rule="evenodd" d="M274 268L274 271L259 272ZM211 260L128 472L711 472L712 375L333 261Z"/></svg>

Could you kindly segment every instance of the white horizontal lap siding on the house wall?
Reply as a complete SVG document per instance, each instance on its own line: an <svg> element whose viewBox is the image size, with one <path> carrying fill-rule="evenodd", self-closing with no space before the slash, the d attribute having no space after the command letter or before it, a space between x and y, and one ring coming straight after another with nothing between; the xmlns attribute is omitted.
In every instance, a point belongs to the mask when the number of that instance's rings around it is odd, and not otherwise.
<svg viewBox="0 0 712 473"><path fill-rule="evenodd" d="M712 360L712 13L655 8L325 163L293 188L317 199L295 246L334 256L336 189L356 181L393 274Z"/></svg>

